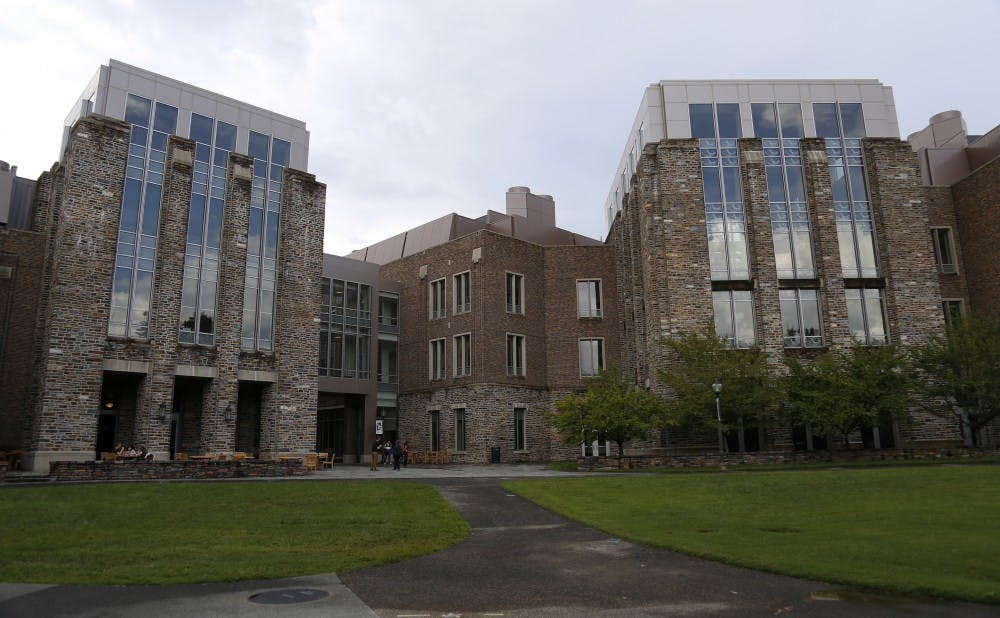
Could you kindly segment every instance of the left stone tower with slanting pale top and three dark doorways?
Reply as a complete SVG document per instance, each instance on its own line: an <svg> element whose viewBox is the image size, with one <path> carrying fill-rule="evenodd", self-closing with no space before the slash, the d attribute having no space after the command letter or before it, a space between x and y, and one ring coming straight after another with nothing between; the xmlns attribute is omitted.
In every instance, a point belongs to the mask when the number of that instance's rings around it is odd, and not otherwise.
<svg viewBox="0 0 1000 618"><path fill-rule="evenodd" d="M307 157L300 121L100 68L31 215L0 230L0 417L26 467L116 442L314 447L325 187Z"/></svg>

